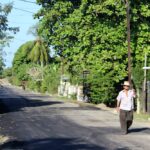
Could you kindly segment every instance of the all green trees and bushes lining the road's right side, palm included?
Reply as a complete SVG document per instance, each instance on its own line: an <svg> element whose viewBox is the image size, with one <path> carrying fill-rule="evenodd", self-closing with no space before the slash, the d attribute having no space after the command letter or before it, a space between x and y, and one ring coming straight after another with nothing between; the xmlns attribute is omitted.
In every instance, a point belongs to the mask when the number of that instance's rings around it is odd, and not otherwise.
<svg viewBox="0 0 150 150"><path fill-rule="evenodd" d="M132 78L141 93L144 55L150 55L150 3L129 2ZM80 85L83 71L87 70L91 102L113 104L119 85L127 79L125 1L37 0L37 4L41 5L34 16L39 19L36 27L39 38L18 49L12 81L15 84L27 81L31 89L55 93L61 74L68 74L73 84Z"/></svg>

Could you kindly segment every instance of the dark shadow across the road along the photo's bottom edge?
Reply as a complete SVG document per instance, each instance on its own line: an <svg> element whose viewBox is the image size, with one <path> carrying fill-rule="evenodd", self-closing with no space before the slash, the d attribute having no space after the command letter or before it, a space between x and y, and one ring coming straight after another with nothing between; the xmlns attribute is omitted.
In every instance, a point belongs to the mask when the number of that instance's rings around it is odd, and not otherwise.
<svg viewBox="0 0 150 150"><path fill-rule="evenodd" d="M31 141L9 141L0 146L4 149L23 149L23 150L106 150L106 148L84 143L73 138L47 138L35 139Z"/></svg>

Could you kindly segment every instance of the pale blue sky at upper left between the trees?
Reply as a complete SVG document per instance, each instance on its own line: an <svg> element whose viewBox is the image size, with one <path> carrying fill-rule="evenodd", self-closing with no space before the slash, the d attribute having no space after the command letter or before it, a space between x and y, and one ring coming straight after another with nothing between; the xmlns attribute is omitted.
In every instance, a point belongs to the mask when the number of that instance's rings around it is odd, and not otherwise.
<svg viewBox="0 0 150 150"><path fill-rule="evenodd" d="M25 0L26 1L26 0ZM36 2L36 0L0 0L1 4L7 4L13 2L13 9L8 16L10 27L19 27L19 32L14 35L14 39L10 42L9 47L5 47L5 65L6 67L12 66L12 60L17 49L25 42L34 40L35 37L29 34L29 28L35 25L38 20L33 19L33 14L36 13L40 6L30 2ZM25 10L25 11L21 11ZM30 11L33 13L29 13Z"/></svg>

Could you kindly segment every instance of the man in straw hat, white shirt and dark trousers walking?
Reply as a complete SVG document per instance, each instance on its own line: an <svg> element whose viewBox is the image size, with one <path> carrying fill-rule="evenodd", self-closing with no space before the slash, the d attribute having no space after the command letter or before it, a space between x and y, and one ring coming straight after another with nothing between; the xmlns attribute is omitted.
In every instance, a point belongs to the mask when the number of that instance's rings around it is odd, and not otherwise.
<svg viewBox="0 0 150 150"><path fill-rule="evenodd" d="M123 90L119 92L117 97L117 111L119 112L120 125L123 134L128 133L128 129L133 122L134 98L134 90L130 90L130 83L125 81Z"/></svg>

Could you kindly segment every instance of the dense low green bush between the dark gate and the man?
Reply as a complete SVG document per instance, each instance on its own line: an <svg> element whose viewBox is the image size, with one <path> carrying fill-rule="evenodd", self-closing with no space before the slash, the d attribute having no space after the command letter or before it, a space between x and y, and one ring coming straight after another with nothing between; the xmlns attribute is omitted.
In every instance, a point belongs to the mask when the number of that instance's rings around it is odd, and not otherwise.
<svg viewBox="0 0 150 150"><path fill-rule="evenodd" d="M90 84L90 100L94 104L105 103L112 105L116 101L118 94L115 82L111 80L109 74L95 74L89 76L88 82Z"/></svg>

